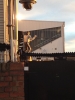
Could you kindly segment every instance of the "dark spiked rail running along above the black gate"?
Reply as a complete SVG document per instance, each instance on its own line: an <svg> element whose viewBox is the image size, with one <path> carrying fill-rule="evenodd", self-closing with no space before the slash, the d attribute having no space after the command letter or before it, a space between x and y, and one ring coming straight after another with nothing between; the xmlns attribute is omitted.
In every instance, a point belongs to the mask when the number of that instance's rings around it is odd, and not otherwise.
<svg viewBox="0 0 75 100"><path fill-rule="evenodd" d="M36 61L37 59L40 59L40 58L46 58L47 61L52 61L52 60L74 60L75 61L75 52L69 52L69 53L25 53L25 52L21 52L20 53L21 61L28 60L29 57L36 58Z"/></svg>

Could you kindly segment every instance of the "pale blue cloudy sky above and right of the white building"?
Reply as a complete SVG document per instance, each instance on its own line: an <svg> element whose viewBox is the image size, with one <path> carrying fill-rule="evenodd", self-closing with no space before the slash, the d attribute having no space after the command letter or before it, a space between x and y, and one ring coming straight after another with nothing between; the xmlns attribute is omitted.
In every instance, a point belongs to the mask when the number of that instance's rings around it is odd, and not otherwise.
<svg viewBox="0 0 75 100"><path fill-rule="evenodd" d="M37 0L30 11L18 4L24 20L63 21L65 52L75 52L75 0Z"/></svg>

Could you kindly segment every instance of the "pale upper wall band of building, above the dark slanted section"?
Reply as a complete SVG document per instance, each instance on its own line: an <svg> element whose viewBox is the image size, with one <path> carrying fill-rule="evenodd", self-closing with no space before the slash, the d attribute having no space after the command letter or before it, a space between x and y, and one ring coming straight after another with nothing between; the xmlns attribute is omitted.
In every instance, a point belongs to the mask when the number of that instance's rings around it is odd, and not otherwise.
<svg viewBox="0 0 75 100"><path fill-rule="evenodd" d="M33 21L33 20L21 20L18 21L19 31L30 31L44 28L52 28L63 26L64 22L55 21Z"/></svg>

